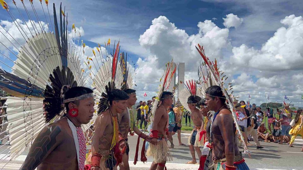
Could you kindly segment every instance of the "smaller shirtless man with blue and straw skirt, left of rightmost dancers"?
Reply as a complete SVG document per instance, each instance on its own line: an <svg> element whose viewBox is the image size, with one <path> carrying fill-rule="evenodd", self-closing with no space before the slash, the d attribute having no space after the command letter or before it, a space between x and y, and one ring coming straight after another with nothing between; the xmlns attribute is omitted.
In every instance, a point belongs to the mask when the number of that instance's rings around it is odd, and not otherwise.
<svg viewBox="0 0 303 170"><path fill-rule="evenodd" d="M195 125L195 128L192 130L191 135L188 138L188 145L189 150L191 153L192 161L187 162L187 164L196 164L196 155L195 150L198 154L198 157L200 158L202 156L200 147L204 146L204 139L199 141L200 138L200 132L203 131L204 122L203 122L203 116L200 113L200 110L197 109L198 103L201 100L201 97L196 95L191 95L187 99L188 108L191 112L191 119Z"/></svg>

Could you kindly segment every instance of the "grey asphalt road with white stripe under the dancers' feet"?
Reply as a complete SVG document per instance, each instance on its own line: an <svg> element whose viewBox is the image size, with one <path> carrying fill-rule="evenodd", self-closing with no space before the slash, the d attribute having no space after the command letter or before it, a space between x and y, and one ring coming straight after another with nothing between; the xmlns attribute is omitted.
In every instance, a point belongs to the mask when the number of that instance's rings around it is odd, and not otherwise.
<svg viewBox="0 0 303 170"><path fill-rule="evenodd" d="M148 157L148 163L143 164L138 162L137 165L133 165L134 156L135 156L135 147L137 143L138 136L130 136L129 146L129 162L131 169L140 169L145 170L149 169L150 163L152 162L152 158ZM261 145L264 146L264 149L256 149L255 146L249 146L249 150L252 151L251 158L248 155L244 155L245 161L247 162L248 166L251 170L268 170L268 169L276 169L276 170L303 170L303 152L301 152L302 147L302 139L301 137L297 137L298 139L295 140L294 148L289 148L288 145L283 144L279 145L277 143L265 143L261 142ZM187 145L188 134L182 134L181 141L186 144L187 146L178 146L178 139L177 136L174 136L174 143L175 148L171 149L171 155L173 157L173 161L167 164L168 169L198 169L198 165L187 165L185 164L189 160L191 160L191 154L189 152L189 147ZM142 147L143 141L140 141L140 149ZM169 142L168 142L169 143ZM169 143L170 144L170 143ZM251 142L251 144L255 144L255 142ZM1 145L0 146L0 170L8 162L6 153L8 153L8 146ZM90 147L88 147L90 148ZM139 152L139 154L140 154ZM22 162L24 161L26 155L28 153L28 149L26 149L22 155L20 155L16 161L10 161L7 165L3 168L3 170L11 170L11 169L18 169ZM2 158L4 157L4 158ZM5 159L6 158L6 159ZM139 155L140 158L140 155ZM198 155L196 155L197 162L198 162ZM5 159L5 160L4 160Z"/></svg>

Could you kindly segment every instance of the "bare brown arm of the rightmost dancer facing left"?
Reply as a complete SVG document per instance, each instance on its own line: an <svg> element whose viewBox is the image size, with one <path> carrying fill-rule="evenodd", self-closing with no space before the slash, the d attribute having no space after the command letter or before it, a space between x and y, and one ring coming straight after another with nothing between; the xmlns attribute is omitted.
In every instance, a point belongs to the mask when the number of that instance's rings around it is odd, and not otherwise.
<svg viewBox="0 0 303 170"><path fill-rule="evenodd" d="M221 123L218 123L218 126L225 143L224 151L226 157L226 165L234 166L234 161L235 161L234 129L231 128L234 126L233 125L234 120L232 119L232 115L228 114L227 111L223 110L221 112L224 113L219 116Z"/></svg>

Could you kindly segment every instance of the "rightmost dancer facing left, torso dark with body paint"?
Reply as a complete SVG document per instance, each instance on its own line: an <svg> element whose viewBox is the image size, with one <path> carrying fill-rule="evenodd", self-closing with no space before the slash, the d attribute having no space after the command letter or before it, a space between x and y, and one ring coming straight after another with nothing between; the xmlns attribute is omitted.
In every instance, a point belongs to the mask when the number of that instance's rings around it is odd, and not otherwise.
<svg viewBox="0 0 303 170"><path fill-rule="evenodd" d="M219 86L205 90L208 110L215 111L211 123L210 140L213 147L210 167L225 170L248 170L238 149L235 122L232 113L225 105L226 97Z"/></svg>

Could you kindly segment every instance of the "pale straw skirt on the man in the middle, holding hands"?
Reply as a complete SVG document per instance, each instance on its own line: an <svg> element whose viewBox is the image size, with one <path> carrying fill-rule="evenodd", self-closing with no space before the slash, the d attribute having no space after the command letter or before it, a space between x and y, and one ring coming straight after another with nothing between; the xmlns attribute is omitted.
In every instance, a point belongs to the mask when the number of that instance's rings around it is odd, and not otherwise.
<svg viewBox="0 0 303 170"><path fill-rule="evenodd" d="M167 138L159 137L157 145L150 144L147 149L147 156L154 158L154 163L163 163L172 161L171 154L167 145Z"/></svg>

